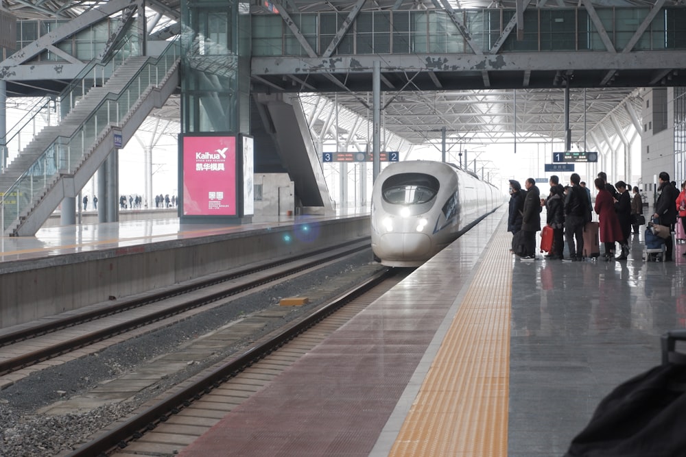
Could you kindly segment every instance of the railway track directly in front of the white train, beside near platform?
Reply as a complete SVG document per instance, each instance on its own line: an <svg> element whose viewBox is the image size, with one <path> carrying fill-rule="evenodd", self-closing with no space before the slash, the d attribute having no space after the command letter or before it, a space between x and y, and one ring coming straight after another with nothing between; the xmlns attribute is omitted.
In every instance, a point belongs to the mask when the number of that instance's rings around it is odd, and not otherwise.
<svg viewBox="0 0 686 457"><path fill-rule="evenodd" d="M244 354L154 399L69 457L176 454L407 274L390 269L375 274L297 323L272 332Z"/></svg>

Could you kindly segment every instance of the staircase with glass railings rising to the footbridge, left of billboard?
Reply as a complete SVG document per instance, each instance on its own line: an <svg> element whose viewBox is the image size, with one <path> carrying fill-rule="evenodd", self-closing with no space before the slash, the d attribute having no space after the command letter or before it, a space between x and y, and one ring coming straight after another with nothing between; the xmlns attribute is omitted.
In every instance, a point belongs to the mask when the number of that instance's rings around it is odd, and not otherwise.
<svg viewBox="0 0 686 457"><path fill-rule="evenodd" d="M95 87L64 117L45 127L0 175L3 234L33 236L66 197L75 197L115 149L125 145L154 108L179 84L178 49L159 58L126 60L102 87Z"/></svg>

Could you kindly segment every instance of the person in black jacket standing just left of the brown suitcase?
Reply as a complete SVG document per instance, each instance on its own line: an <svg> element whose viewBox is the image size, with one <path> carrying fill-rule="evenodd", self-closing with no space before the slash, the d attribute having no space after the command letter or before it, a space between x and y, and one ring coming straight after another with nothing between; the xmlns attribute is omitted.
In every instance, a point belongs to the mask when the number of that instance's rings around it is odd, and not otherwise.
<svg viewBox="0 0 686 457"><path fill-rule="evenodd" d="M584 224L591 221L591 208L586 191L579 184L581 177L578 173L571 173L569 180L571 187L565 197L565 238L569 258L563 262L580 262L584 260Z"/></svg>

